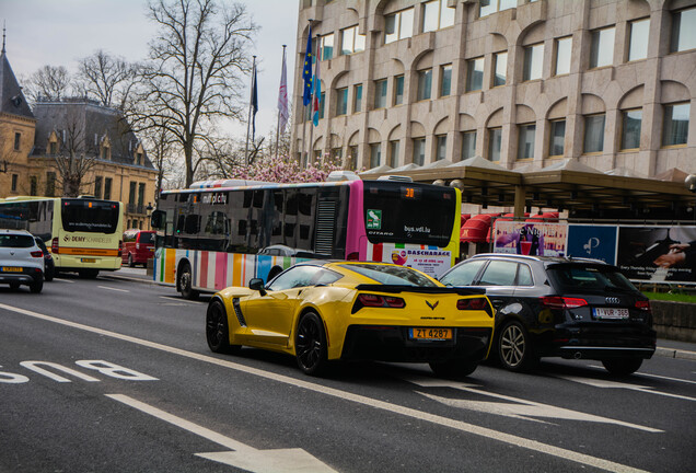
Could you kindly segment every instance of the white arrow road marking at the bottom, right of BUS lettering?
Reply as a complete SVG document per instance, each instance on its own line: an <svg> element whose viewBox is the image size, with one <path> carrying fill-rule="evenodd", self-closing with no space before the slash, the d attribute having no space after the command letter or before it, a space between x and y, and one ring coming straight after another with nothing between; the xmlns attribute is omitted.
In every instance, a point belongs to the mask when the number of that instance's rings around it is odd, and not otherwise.
<svg viewBox="0 0 696 473"><path fill-rule="evenodd" d="M196 455L208 460L229 464L251 472L335 472L335 470L330 469L328 465L302 449L257 450L242 443L241 441L225 437L222 434L218 434L206 427L199 426L198 424L177 417L127 395L106 394L106 396L154 416L161 420L175 425L176 427L183 428L184 430L188 430L199 437L234 450L233 452L196 453Z"/></svg>

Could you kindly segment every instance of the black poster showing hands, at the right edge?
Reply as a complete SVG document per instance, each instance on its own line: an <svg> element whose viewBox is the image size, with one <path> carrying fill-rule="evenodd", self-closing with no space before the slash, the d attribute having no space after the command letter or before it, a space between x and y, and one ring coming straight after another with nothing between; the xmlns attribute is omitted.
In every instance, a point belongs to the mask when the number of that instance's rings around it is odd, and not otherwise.
<svg viewBox="0 0 696 473"><path fill-rule="evenodd" d="M696 227L618 229L616 265L629 279L696 282Z"/></svg>

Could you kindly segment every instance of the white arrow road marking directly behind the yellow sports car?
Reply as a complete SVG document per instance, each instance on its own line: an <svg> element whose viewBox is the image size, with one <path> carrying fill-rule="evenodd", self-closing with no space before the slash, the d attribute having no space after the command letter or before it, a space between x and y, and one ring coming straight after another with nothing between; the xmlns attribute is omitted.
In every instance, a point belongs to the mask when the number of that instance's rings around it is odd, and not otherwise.
<svg viewBox="0 0 696 473"><path fill-rule="evenodd" d="M503 401L509 401L507 403L503 402L487 402L487 401L469 401L469 400L461 400L461 399L450 399L442 397L434 394L424 393L420 394L429 397L439 403L457 407L457 408L466 408L471 411L482 412L482 413L490 413L497 414L506 417L521 418L525 420L536 420L534 417L542 418L557 418L557 419L568 419L568 420L584 420L584 422L594 422L594 423L603 423L603 424L613 424L628 428L635 428L638 430L649 431L651 434L662 432L663 430L659 430L651 427L645 427L637 424L630 424L623 420L616 420L608 417L601 417L592 414L585 414L579 411L571 411L564 407L557 407L549 404L542 404L534 401L527 401L519 397L507 396L504 394L496 394L486 391L482 391L475 384L465 384L457 383L452 381L444 380L434 380L431 378L422 378L422 379L406 379L405 381L411 382L422 388L454 388L460 391L471 392L473 394L486 395L490 397L496 397Z"/></svg>

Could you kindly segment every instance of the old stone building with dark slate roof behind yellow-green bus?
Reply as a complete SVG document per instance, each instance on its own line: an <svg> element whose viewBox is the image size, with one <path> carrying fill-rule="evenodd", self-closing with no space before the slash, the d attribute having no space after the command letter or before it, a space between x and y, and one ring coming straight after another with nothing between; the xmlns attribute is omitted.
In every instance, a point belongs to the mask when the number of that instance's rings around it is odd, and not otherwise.
<svg viewBox="0 0 696 473"><path fill-rule="evenodd" d="M31 108L8 61L0 57L0 198L63 195L61 166L85 166L79 194L120 200L126 228L147 229L156 170L123 115L83 97ZM84 157L84 158L82 158ZM79 163L78 163L79 161Z"/></svg>

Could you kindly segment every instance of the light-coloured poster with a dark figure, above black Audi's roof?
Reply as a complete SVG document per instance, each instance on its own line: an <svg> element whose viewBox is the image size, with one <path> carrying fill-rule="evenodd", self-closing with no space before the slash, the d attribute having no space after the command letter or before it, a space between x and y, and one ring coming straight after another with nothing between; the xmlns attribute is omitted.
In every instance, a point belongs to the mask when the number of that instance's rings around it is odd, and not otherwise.
<svg viewBox="0 0 696 473"><path fill-rule="evenodd" d="M568 224L497 220L494 252L564 256Z"/></svg>

